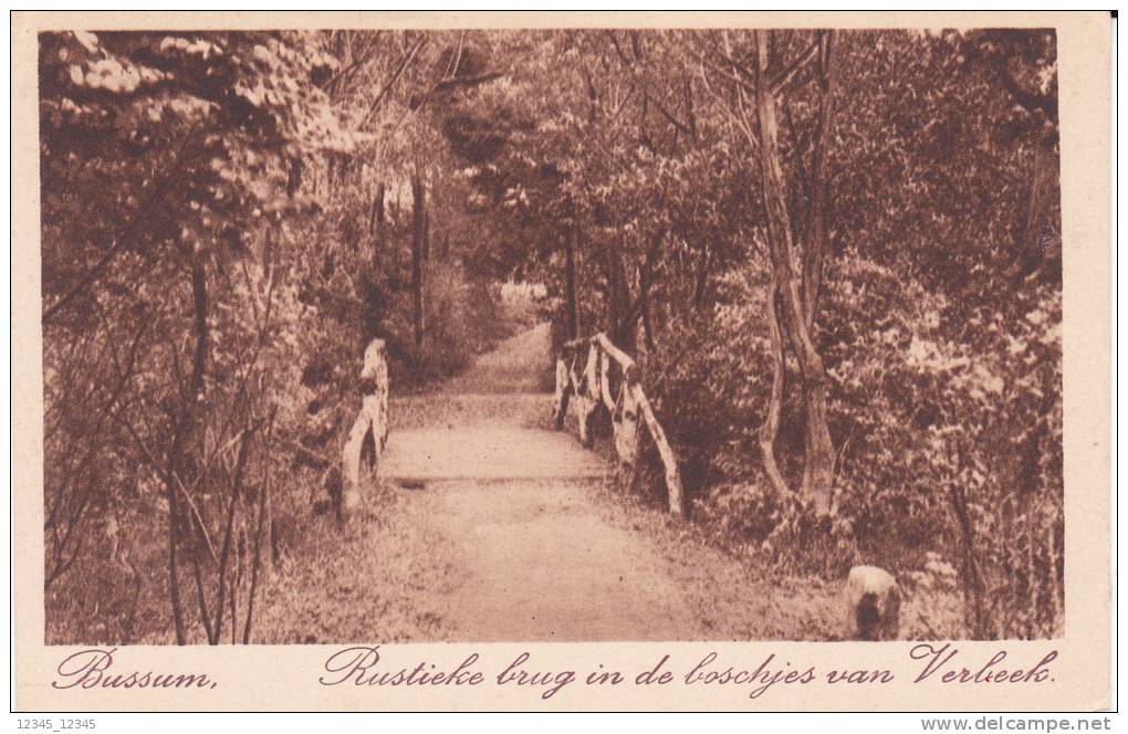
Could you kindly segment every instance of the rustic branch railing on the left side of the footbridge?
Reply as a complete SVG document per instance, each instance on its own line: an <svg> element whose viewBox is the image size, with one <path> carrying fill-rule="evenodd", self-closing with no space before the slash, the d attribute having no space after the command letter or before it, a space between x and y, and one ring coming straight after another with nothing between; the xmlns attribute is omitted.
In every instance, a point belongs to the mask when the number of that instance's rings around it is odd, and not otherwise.
<svg viewBox="0 0 1128 734"><path fill-rule="evenodd" d="M372 437L372 466L379 470L384 448L388 443L388 359L384 339L372 339L364 350L364 366L360 372L363 396L360 414L349 432L342 451L342 487L340 513L347 518L361 504L361 460L369 436Z"/></svg>

